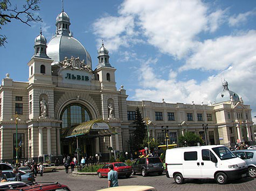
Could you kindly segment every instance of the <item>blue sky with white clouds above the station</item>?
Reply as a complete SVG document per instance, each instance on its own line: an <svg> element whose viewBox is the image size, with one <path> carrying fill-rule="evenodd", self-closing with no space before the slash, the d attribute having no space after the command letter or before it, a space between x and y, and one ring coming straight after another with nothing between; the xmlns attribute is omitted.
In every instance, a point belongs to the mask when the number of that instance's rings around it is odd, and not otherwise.
<svg viewBox="0 0 256 191"><path fill-rule="evenodd" d="M42 25L50 40L61 0L43 0L40 9L42 23L3 27L1 78L28 80L34 39ZM256 115L256 0L64 0L64 10L93 68L104 39L129 100L208 104L225 78Z"/></svg>

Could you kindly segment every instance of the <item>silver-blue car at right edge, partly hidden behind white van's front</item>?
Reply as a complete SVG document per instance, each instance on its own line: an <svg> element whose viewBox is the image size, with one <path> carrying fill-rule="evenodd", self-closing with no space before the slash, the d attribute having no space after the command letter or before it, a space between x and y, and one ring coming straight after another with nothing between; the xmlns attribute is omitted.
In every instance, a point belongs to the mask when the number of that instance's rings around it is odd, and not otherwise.
<svg viewBox="0 0 256 191"><path fill-rule="evenodd" d="M256 150L234 150L233 153L243 159L248 166L248 175L256 177Z"/></svg>

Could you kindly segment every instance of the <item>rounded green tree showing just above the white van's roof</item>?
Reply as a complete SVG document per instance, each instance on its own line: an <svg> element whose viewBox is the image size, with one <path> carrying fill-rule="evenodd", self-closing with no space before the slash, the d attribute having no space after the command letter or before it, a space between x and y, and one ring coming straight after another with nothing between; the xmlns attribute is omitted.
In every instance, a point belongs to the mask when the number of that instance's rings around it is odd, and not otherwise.
<svg viewBox="0 0 256 191"><path fill-rule="evenodd" d="M186 143L185 143L186 141ZM203 139L190 131L187 131L184 133L184 136L179 136L179 145L180 146L197 146L197 142L199 142L200 144L203 143Z"/></svg>

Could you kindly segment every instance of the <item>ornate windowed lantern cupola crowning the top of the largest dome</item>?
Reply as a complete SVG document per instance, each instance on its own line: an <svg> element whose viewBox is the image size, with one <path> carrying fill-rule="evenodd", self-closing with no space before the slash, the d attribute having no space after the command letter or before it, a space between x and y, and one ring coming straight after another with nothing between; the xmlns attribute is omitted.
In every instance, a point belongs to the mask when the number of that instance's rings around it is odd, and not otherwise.
<svg viewBox="0 0 256 191"><path fill-rule="evenodd" d="M71 35L71 32L69 30L70 26L69 16L66 12L64 12L64 8L62 6L62 11L59 13L59 15L56 18L56 34L63 34L63 35Z"/></svg>

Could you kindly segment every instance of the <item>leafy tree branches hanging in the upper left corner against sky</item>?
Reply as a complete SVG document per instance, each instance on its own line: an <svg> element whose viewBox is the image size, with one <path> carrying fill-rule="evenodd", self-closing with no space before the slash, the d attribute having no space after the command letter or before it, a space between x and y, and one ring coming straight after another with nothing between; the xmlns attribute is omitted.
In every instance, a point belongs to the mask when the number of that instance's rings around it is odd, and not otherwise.
<svg viewBox="0 0 256 191"><path fill-rule="evenodd" d="M0 0L0 29L4 25L10 23L13 19L20 20L29 26L31 21L42 21L40 16L35 16L34 11L38 11L41 0L26 0L22 8L17 5L12 5L11 0ZM7 43L6 35L0 34L0 46L4 46Z"/></svg>

